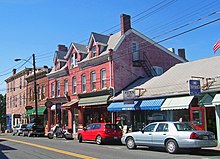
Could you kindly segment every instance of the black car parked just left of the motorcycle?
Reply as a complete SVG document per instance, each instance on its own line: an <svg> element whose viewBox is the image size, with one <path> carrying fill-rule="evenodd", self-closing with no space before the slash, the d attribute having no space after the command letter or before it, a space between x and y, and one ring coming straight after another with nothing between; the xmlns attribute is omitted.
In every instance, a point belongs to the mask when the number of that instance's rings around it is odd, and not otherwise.
<svg viewBox="0 0 220 159"><path fill-rule="evenodd" d="M45 129L43 125L31 123L27 124L26 128L23 129L23 136L44 136Z"/></svg>

